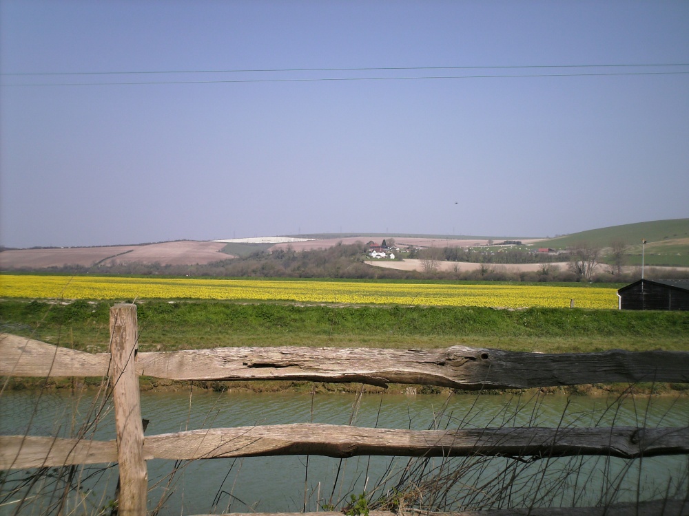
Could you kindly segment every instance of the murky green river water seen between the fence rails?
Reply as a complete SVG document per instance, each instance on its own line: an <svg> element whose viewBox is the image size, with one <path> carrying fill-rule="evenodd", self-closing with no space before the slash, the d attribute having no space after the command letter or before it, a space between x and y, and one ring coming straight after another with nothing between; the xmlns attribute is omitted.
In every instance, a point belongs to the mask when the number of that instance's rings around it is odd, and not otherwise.
<svg viewBox="0 0 689 516"><path fill-rule="evenodd" d="M238 394L191 390L141 394L146 434L209 427L320 422L400 429L469 427L686 427L689 398L546 395ZM114 439L109 400L95 391L10 391L0 397L0 434ZM424 508L586 506L686 495L688 458L413 459L311 455L175 462L150 460L149 508L161 515L341 508L351 494L404 494ZM64 479L72 473L71 481ZM405 473L406 472L406 473ZM114 498L117 467L52 469L1 477L0 515L57 513L65 491L72 514L96 514ZM404 476L406 475L406 476ZM59 478L56 478L59 477ZM404 479L402 484L400 478ZM399 485L398 485L399 484ZM410 488L413 486L413 488ZM12 493L19 488L22 494ZM405 488L407 490L405 491ZM372 494L371 494L372 493ZM400 495L396 495L398 498ZM24 499L20 502L20 499Z"/></svg>

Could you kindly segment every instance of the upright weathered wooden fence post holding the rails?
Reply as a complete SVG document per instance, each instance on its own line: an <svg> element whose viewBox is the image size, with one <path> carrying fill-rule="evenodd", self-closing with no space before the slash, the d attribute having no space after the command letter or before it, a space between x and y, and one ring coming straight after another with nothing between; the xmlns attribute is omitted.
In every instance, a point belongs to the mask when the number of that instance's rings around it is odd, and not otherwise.
<svg viewBox="0 0 689 516"><path fill-rule="evenodd" d="M110 375L115 405L117 457L120 469L120 516L145 516L148 471L143 458L143 423L138 375L136 305L110 308Z"/></svg>

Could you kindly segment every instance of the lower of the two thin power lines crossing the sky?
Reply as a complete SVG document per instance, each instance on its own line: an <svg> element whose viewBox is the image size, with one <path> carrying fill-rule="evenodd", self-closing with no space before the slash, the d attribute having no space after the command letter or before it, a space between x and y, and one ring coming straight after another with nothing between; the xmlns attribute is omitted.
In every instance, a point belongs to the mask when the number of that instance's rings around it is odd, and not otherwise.
<svg viewBox="0 0 689 516"><path fill-rule="evenodd" d="M98 73L98 72L94 72ZM106 73L106 72L103 72ZM114 72L126 73L126 72ZM136 72L146 73L146 72ZM164 72L151 72L164 73ZM314 83L327 81L354 80L431 80L431 79L477 79L477 78L534 78L534 77L595 77L595 76L641 76L641 75L682 75L686 72L603 72L575 74L491 74L460 76L394 76L394 77L320 77L320 78L275 78L275 79L224 79L224 80L147 80L119 81L107 83L8 83L2 86L130 86L130 85L164 85L164 84L229 84L229 83Z"/></svg>

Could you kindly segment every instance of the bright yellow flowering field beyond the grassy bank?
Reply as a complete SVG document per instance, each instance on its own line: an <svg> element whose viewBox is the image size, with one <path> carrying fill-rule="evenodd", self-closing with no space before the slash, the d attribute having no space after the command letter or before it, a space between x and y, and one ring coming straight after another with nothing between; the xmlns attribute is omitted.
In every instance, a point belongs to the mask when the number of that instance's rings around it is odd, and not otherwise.
<svg viewBox="0 0 689 516"><path fill-rule="evenodd" d="M570 299L574 299L577 308L617 308L617 291L611 288L331 280L0 275L0 297L109 300L228 299L500 308L568 307Z"/></svg>

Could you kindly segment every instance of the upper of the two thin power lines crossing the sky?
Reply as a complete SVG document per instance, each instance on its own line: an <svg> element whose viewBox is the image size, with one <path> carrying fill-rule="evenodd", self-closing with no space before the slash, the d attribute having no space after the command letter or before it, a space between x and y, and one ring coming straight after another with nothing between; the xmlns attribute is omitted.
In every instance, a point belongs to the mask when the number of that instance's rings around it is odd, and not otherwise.
<svg viewBox="0 0 689 516"><path fill-rule="evenodd" d="M357 67L357 68L256 68L215 70L144 70L130 72L17 72L2 73L6 76L54 76L54 75L136 75L136 74L234 74L263 72L375 72L393 70L469 70L469 69L527 69L527 68L613 68L613 67L670 67L689 66L689 63L639 63L608 65L505 65L505 66L413 66L413 67Z"/></svg>

